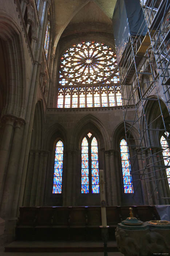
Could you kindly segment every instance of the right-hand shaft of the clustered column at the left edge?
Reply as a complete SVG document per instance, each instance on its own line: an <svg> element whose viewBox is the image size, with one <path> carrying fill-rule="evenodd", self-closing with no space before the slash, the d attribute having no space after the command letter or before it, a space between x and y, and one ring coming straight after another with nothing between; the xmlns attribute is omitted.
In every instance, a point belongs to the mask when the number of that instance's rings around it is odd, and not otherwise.
<svg viewBox="0 0 170 256"><path fill-rule="evenodd" d="M6 171L4 193L1 203L1 216L5 218L11 217L13 196L15 192L15 185L17 182L17 167L20 158L20 150L23 137L21 125L23 125L24 123L25 121L23 119L15 118L12 148L9 155L8 169Z"/></svg>

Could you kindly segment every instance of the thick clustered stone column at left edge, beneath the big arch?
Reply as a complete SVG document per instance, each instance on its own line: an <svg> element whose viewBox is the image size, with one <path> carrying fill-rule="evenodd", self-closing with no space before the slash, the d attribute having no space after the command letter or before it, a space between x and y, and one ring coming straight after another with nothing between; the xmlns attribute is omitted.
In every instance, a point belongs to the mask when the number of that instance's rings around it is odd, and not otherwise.
<svg viewBox="0 0 170 256"><path fill-rule="evenodd" d="M17 170L25 120L12 115L6 115L1 120L4 126L0 150L1 180L3 181L1 185L1 217L7 219L13 212L12 205L15 201Z"/></svg>

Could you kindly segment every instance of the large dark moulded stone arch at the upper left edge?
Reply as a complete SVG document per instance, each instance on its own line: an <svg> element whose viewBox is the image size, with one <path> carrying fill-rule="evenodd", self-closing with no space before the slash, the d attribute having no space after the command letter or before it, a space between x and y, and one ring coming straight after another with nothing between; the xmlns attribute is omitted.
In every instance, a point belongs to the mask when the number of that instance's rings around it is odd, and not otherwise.
<svg viewBox="0 0 170 256"><path fill-rule="evenodd" d="M0 38L5 53L5 69L8 74L4 85L6 88L3 89L5 103L2 115L8 113L23 118L26 105L26 81L21 30L11 16L3 10L0 11Z"/></svg>

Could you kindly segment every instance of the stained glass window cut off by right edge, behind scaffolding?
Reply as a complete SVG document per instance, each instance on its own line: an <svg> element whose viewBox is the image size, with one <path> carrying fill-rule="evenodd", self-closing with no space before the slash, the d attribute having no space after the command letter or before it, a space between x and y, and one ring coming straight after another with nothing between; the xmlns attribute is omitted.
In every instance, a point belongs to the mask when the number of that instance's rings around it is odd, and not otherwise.
<svg viewBox="0 0 170 256"><path fill-rule="evenodd" d="M169 132L166 132L165 135L169 135ZM166 136L161 137L161 146L163 148L162 154L163 154L163 160L164 160L164 164L167 167L166 168L166 175L167 175L167 179L168 179L168 184L169 184L169 188L170 188L170 150L169 150L169 146L167 143L167 140L165 139Z"/></svg>

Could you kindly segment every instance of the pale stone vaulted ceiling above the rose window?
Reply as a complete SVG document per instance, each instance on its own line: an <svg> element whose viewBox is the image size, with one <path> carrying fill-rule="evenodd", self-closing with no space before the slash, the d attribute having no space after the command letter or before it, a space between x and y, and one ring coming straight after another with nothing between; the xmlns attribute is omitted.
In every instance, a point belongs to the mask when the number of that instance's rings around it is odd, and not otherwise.
<svg viewBox="0 0 170 256"><path fill-rule="evenodd" d="M87 31L112 33L116 0L55 0L54 3L55 48L59 39L67 35Z"/></svg>

